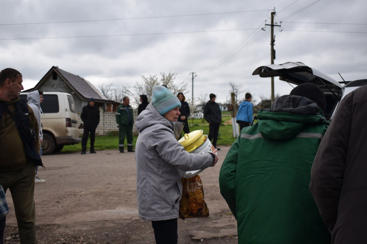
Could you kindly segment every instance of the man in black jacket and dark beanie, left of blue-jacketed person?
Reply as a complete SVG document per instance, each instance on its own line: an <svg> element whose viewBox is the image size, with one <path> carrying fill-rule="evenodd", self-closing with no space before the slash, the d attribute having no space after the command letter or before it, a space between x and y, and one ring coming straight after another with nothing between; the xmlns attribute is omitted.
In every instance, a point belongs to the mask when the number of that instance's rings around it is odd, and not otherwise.
<svg viewBox="0 0 367 244"><path fill-rule="evenodd" d="M222 113L219 104L215 102L216 96L213 93L209 95L210 101L204 107L204 119L209 123L209 140L212 141L214 148L217 148L219 126L222 122ZM217 148L218 151L220 148Z"/></svg>

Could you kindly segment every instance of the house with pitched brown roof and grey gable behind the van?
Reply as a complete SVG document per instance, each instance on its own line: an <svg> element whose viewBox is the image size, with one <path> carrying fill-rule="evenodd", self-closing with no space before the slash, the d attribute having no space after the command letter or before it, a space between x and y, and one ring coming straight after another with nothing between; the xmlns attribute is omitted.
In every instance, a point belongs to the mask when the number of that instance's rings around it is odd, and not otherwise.
<svg viewBox="0 0 367 244"><path fill-rule="evenodd" d="M58 66L52 66L34 88L24 92L33 90L70 93L75 101L77 113L81 112L91 97L95 99L96 106L102 108L103 111L112 111L115 103L107 99L94 85L83 77L62 70Z"/></svg>

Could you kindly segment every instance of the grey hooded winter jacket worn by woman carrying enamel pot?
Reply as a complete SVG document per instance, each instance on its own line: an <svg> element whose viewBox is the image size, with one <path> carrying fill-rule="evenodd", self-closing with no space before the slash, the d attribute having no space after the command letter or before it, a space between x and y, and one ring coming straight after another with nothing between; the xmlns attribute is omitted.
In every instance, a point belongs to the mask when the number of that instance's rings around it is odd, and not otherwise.
<svg viewBox="0 0 367 244"><path fill-rule="evenodd" d="M213 157L185 151L175 137L183 123L164 118L152 103L135 124L140 133L135 145L139 217L149 221L177 218L182 195L178 169L205 169L213 165Z"/></svg>

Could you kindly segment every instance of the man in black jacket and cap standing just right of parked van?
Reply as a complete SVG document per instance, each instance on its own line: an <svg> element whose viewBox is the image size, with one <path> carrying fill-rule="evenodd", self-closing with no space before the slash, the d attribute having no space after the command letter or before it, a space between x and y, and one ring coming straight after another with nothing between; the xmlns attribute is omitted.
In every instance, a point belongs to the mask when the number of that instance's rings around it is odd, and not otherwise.
<svg viewBox="0 0 367 244"><path fill-rule="evenodd" d="M99 124L99 108L95 106L95 100L93 97L89 99L89 104L83 107L80 118L84 123L83 138L81 138L81 154L86 154L89 133L91 133L90 153L95 154L94 140L95 129Z"/></svg>

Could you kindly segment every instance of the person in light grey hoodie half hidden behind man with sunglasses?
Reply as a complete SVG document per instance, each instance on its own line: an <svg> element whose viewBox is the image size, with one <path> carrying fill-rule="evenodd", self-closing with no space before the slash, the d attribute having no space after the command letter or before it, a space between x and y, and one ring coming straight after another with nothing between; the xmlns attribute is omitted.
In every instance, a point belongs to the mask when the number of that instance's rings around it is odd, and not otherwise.
<svg viewBox="0 0 367 244"><path fill-rule="evenodd" d="M42 145L43 141L43 133L42 133L42 125L41 125L41 103L43 103L43 92L41 90L34 90L33 92L30 92L27 94L27 100L29 107L32 108L34 115L36 115L36 119L38 122L38 128L39 128L39 140L40 144ZM40 155L42 155L42 148L40 149ZM44 183L46 180L41 179L37 175L38 166L36 166L36 178L34 179L34 182L36 183Z"/></svg>

